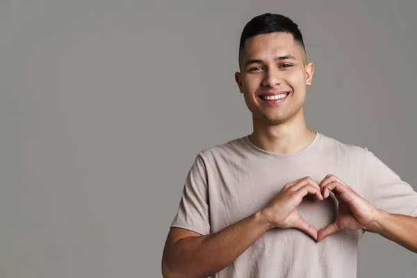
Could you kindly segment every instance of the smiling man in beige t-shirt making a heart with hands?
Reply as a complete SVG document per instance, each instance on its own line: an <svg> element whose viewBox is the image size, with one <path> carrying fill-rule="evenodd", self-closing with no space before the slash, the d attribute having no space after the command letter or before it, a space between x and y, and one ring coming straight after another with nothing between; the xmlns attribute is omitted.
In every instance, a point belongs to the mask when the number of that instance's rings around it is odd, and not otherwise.
<svg viewBox="0 0 417 278"><path fill-rule="evenodd" d="M195 158L163 277L356 277L365 231L417 252L411 186L368 149L306 127L313 63L297 24L254 17L239 65L254 131Z"/></svg>

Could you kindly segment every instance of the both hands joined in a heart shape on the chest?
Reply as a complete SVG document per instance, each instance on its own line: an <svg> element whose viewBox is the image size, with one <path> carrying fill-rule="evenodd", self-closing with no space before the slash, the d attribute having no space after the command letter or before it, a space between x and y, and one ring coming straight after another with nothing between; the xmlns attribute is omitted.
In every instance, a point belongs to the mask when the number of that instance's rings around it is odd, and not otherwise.
<svg viewBox="0 0 417 278"><path fill-rule="evenodd" d="M297 206L307 194L311 194L314 199L321 201L329 197L330 191L338 200L336 219L329 226L317 231L311 224L300 218ZM272 199L272 202L263 208L263 214L268 219L271 228L299 229L318 242L338 231L369 230L371 225L376 222L378 213L379 211L366 199L363 199L333 174L328 174L320 182L320 185L311 177L303 177L287 183L281 192Z"/></svg>

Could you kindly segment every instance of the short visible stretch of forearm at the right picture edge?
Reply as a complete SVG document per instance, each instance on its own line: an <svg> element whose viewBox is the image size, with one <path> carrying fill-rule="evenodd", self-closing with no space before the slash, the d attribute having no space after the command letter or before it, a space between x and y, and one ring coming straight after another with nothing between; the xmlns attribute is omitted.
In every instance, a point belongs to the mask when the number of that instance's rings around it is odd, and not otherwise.
<svg viewBox="0 0 417 278"><path fill-rule="evenodd" d="M380 234L417 253L417 218L415 217L379 210L377 220L368 231Z"/></svg>

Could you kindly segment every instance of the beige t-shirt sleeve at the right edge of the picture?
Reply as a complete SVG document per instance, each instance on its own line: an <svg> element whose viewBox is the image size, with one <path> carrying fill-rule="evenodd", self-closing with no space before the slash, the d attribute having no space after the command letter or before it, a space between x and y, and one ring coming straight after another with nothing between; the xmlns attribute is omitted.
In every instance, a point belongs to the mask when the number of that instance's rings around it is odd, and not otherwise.
<svg viewBox="0 0 417 278"><path fill-rule="evenodd" d="M365 148L365 198L389 213L417 216L417 193Z"/></svg>

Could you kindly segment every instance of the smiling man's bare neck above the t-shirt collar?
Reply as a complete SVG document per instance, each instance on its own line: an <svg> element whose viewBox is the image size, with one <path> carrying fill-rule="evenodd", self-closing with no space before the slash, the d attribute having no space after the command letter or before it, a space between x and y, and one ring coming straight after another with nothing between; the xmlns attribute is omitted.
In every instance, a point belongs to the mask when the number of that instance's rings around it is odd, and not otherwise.
<svg viewBox="0 0 417 278"><path fill-rule="evenodd" d="M316 132L307 128L302 110L295 117L280 124L268 124L252 117L254 131L251 142L267 152L291 154L307 147L316 137Z"/></svg>

